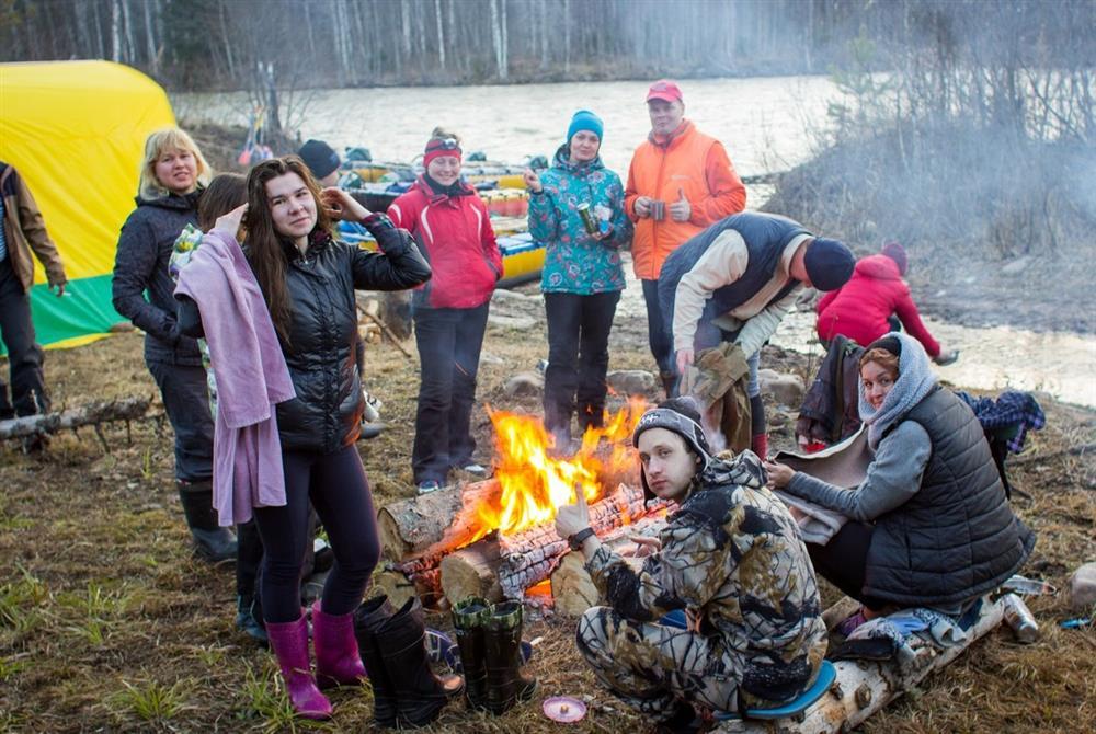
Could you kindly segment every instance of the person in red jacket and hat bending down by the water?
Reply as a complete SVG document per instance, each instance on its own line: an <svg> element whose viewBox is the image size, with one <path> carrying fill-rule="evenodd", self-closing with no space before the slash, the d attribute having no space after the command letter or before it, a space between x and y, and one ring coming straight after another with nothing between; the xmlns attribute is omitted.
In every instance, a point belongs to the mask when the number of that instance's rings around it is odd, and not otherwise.
<svg viewBox="0 0 1096 734"><path fill-rule="evenodd" d="M909 261L898 242L886 244L878 255L861 257L853 277L837 290L823 294L818 305L819 339L830 342L841 334L857 344L870 344L898 331L894 317L905 331L925 347L938 365L949 365L958 352L945 352L921 321L921 314L902 276Z"/></svg>

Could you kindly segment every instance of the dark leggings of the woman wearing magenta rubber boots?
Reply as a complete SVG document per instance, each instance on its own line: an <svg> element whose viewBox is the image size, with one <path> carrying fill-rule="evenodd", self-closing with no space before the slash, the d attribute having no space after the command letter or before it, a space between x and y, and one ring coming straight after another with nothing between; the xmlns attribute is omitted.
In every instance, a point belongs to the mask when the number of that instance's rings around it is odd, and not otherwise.
<svg viewBox="0 0 1096 734"><path fill-rule="evenodd" d="M254 511L265 550L260 582L263 619L284 623L300 617L300 564L306 544L312 541L309 500L335 557L323 585L323 611L349 613L361 604L380 559L373 495L357 448L347 446L334 454L283 451L282 463L286 504Z"/></svg>

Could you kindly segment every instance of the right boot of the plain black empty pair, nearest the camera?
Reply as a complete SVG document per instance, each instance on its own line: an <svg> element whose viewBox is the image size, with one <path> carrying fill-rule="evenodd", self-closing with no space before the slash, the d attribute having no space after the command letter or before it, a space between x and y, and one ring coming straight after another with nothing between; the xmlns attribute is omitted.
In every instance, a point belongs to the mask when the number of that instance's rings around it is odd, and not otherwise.
<svg viewBox="0 0 1096 734"><path fill-rule="evenodd" d="M465 681L458 675L436 676L426 654L426 626L419 597L408 599L376 631L385 669L396 690L396 715L401 726L424 726L460 696ZM372 670L370 670L372 675Z"/></svg>

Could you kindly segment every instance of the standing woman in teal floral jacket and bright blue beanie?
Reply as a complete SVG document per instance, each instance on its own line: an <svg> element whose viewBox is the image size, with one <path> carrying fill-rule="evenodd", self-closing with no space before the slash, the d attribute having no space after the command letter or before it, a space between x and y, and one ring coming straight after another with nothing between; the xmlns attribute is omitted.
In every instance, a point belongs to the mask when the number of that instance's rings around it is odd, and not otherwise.
<svg viewBox="0 0 1096 734"><path fill-rule="evenodd" d="M597 115L580 110L552 167L525 172L529 231L546 248L545 426L558 450L570 448L575 410L583 432L602 425L609 329L625 287L620 249L631 242L620 177L598 157L603 130Z"/></svg>

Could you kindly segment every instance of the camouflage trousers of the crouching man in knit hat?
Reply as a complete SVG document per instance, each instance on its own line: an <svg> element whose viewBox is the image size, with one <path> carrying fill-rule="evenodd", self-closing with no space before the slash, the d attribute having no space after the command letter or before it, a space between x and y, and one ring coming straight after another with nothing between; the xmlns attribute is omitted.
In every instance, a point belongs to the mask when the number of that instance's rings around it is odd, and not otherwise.
<svg viewBox="0 0 1096 734"><path fill-rule="evenodd" d="M741 670L696 632L625 619L593 607L579 619L579 651L597 679L628 706L669 719L675 700L738 711Z"/></svg>

